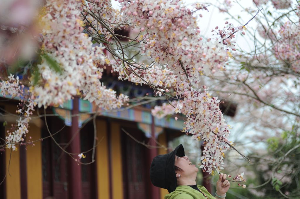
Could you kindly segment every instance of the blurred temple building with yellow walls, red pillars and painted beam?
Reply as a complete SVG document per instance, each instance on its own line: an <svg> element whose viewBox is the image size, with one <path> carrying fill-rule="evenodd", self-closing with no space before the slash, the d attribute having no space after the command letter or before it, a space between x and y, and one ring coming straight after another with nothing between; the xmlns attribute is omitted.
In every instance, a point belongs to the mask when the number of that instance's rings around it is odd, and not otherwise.
<svg viewBox="0 0 300 199"><path fill-rule="evenodd" d="M111 75L103 81L131 98L153 92L146 86L116 81ZM5 115L0 116L1 145L5 132L16 123L17 116L9 113L15 113L18 103L0 98L0 111ZM168 141L183 134L184 121L153 117L151 107L161 103L105 112L74 98L63 107L36 107L26 136L26 142L37 141L34 146L0 151L0 198L163 199L167 190L152 186L150 164L153 157L168 152ZM91 113L95 111L101 114L94 118ZM81 152L86 157L79 159Z"/></svg>

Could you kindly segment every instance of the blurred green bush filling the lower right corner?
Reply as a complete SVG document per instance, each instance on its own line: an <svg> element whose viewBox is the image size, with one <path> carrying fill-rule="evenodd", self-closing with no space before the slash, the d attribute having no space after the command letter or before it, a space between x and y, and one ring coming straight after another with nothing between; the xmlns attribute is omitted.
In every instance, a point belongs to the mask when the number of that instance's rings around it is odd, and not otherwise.
<svg viewBox="0 0 300 199"><path fill-rule="evenodd" d="M295 125L290 130L283 131L280 136L267 140L268 150L264 155L259 152L253 156L249 154L252 165L247 167L246 176L248 188L259 186L255 190L234 189L234 193L227 193L227 199L246 196L251 199L283 199L279 193L288 194L289 198L300 198L300 127ZM256 195L263 193L263 195Z"/></svg>

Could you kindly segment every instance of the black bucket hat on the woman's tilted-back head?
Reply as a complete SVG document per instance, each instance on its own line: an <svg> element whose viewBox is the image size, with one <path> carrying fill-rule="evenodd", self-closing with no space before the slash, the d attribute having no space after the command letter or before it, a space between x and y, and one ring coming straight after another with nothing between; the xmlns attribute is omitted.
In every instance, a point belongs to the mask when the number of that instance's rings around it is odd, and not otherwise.
<svg viewBox="0 0 300 199"><path fill-rule="evenodd" d="M150 179L154 186L168 189L171 193L175 191L177 186L177 178L175 173L175 156L183 157L184 148L182 145L177 146L174 151L169 154L158 155L153 158L150 166Z"/></svg>

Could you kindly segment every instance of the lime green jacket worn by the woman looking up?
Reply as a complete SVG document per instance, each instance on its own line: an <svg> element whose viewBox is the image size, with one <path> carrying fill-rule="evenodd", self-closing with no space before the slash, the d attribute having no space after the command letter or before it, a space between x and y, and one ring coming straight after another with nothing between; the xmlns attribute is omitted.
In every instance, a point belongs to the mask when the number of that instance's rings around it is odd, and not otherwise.
<svg viewBox="0 0 300 199"><path fill-rule="evenodd" d="M209 199L215 199L204 186L197 185ZM205 196L190 186L177 186L175 191L165 195L165 199L206 199Z"/></svg>

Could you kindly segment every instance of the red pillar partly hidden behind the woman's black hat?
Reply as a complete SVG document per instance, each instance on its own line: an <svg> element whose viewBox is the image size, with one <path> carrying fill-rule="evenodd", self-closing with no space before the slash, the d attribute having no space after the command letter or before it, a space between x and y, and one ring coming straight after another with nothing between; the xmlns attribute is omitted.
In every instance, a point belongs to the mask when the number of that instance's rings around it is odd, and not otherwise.
<svg viewBox="0 0 300 199"><path fill-rule="evenodd" d="M156 146L154 116L152 116L151 136L152 136L152 138L150 138L149 144L150 144L150 146ZM150 159L151 159L150 162L152 162L153 158L157 155L158 155L157 148L151 148L150 149ZM153 186L152 183L150 185L150 193L152 193L152 199L158 199L161 197L159 188L156 186Z"/></svg>

